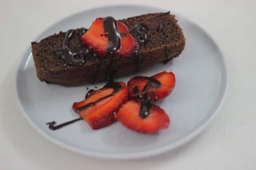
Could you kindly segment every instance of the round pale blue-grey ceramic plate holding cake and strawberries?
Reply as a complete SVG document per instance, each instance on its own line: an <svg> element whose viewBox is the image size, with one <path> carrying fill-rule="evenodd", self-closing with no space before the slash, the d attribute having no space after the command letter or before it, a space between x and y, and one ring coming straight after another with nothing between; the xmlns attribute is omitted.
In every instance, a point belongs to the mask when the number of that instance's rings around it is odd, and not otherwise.
<svg viewBox="0 0 256 170"><path fill-rule="evenodd" d="M148 6L109 6L96 8L67 17L55 23L35 40L70 28L89 28L98 17L116 19L133 17L168 9ZM171 14L173 14L171 12ZM172 150L201 133L219 111L228 88L227 66L218 46L209 35L189 20L176 14L178 24L186 37L186 47L177 59L166 65L159 63L129 77L115 79L128 82L136 75L151 76L172 71L176 85L172 94L158 102L169 115L168 129L155 134L140 134L126 129L119 122L100 130L79 121L59 130L50 130L47 122L57 124L79 118L72 110L73 102L84 99L86 88L101 88L106 82L65 88L40 82L31 53L23 54L17 70L17 97L26 119L43 136L58 146L87 156L133 159Z"/></svg>

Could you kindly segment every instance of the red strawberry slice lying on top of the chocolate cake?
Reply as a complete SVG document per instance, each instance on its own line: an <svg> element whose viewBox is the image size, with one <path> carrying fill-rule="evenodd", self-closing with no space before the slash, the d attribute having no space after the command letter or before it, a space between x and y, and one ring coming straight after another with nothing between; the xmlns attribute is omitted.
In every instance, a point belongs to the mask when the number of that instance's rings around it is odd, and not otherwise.
<svg viewBox="0 0 256 170"><path fill-rule="evenodd" d="M106 56L106 48L111 37L104 31L103 20L104 18L97 18L93 21L90 29L81 37L81 41L95 54ZM121 36L121 46L113 55L118 57L128 57L138 48L138 43L135 38L128 33L129 29L125 24L117 20L116 25Z"/></svg>

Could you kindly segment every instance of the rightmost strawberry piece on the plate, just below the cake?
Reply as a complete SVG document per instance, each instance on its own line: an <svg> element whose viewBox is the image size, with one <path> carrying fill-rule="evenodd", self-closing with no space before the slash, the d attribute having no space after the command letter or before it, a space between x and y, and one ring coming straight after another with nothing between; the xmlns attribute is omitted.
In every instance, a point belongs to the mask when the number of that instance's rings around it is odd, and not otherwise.
<svg viewBox="0 0 256 170"><path fill-rule="evenodd" d="M158 101L168 96L175 87L175 75L172 72L163 71L151 77L136 76L128 83L128 93L131 97L148 98L150 101Z"/></svg>

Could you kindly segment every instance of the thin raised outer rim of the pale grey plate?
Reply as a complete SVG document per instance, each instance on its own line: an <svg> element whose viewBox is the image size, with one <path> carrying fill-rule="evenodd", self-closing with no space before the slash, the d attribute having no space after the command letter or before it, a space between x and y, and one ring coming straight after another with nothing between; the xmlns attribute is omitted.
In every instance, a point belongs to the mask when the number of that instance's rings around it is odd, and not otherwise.
<svg viewBox="0 0 256 170"><path fill-rule="evenodd" d="M167 8L161 8L161 7L154 7L154 6L150 6L150 5L126 5L126 4L122 4L122 5L106 5L106 6L100 6L97 8L88 8L86 10L82 10L76 13L73 13L69 16L66 16L64 18L61 18L60 20L56 21L55 23L52 23L50 26L48 26L46 29L44 29L40 34L38 34L38 36L35 38L35 40L37 40L42 34L44 34L45 31L47 31L50 27L52 27L53 25L55 25L56 23L59 23L63 20L66 20L70 17L73 17L75 15L81 14L85 11L91 11L91 10L99 10L101 8L110 8L110 7L146 7L146 8L154 8L154 9L159 9L162 11L173 11ZM51 141L53 144L62 147L66 150L70 150L74 153L79 153L81 155L84 156L89 156L89 157L94 157L94 158L101 158L101 159L140 159L140 158L146 158L146 157L150 157L150 156L156 156L159 155L161 153L166 153L169 152L171 150L174 150L178 147L183 146L184 144L186 144L187 142L191 141L192 139L194 139L195 137L197 137L200 133L202 133L213 121L213 119L215 118L215 116L219 113L219 111L221 110L225 99L227 97L227 93L228 93L228 89L229 89L229 84L230 84L230 76L229 76L229 66L227 63L227 58L223 55L223 51L221 50L221 48L219 47L219 45L215 42L215 40L212 38L212 36L210 36L210 34L205 31L203 28L201 28L200 26L198 26L197 23L192 22L191 20L189 20L188 18L184 17L183 15L180 15L179 13L175 12L175 15L182 18L183 20L186 20L189 23L194 24L195 26L197 26L198 28L200 28L202 31L204 31L204 33L212 40L212 42L216 45L216 47L218 48L222 60L223 60L223 66L224 66L224 74L226 79L224 80L224 94L221 96L221 99L218 103L218 106L215 108L215 111L212 112L212 114L209 116L208 119L206 119L202 125L200 125L199 127L197 127L195 130L193 130L192 132L190 132L188 135L184 136L183 138L177 140L176 142L172 143L172 144L166 144L163 147L158 147L156 149L152 149L152 150L146 150L146 151L141 151L141 152L135 152L135 153L97 153L97 152L93 152L93 151L88 151L88 150L80 150L76 147L72 147L68 144L64 144L63 142L54 139L52 136L49 136L47 133L44 133L43 130L40 129L40 127L38 127L27 115L27 113L25 112L23 105L20 102L20 96L18 94L18 84L17 84L17 79L18 79L18 74L20 71L20 64L23 61L23 58L25 56L25 54L29 51L29 49L31 48L31 45L29 45L25 51L22 53L20 60L18 62L18 67L16 68L16 74L15 74L15 97L18 101L18 105L21 109L21 113L23 114L23 116L26 118L26 120L29 122L29 124L41 135L44 136L44 138L46 138L47 140ZM32 56L30 56L32 57ZM29 59L30 59L29 57ZM28 59L28 60L29 60Z"/></svg>

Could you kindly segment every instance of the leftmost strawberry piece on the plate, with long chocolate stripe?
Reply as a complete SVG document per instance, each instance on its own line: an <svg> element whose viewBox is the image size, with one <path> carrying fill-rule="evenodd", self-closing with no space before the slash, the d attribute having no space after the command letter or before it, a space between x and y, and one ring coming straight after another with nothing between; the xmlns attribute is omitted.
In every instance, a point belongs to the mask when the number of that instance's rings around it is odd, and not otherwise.
<svg viewBox="0 0 256 170"><path fill-rule="evenodd" d="M92 129L100 129L116 121L114 114L127 101L128 91L124 82L111 82L92 91L87 99L73 104L76 111Z"/></svg>

